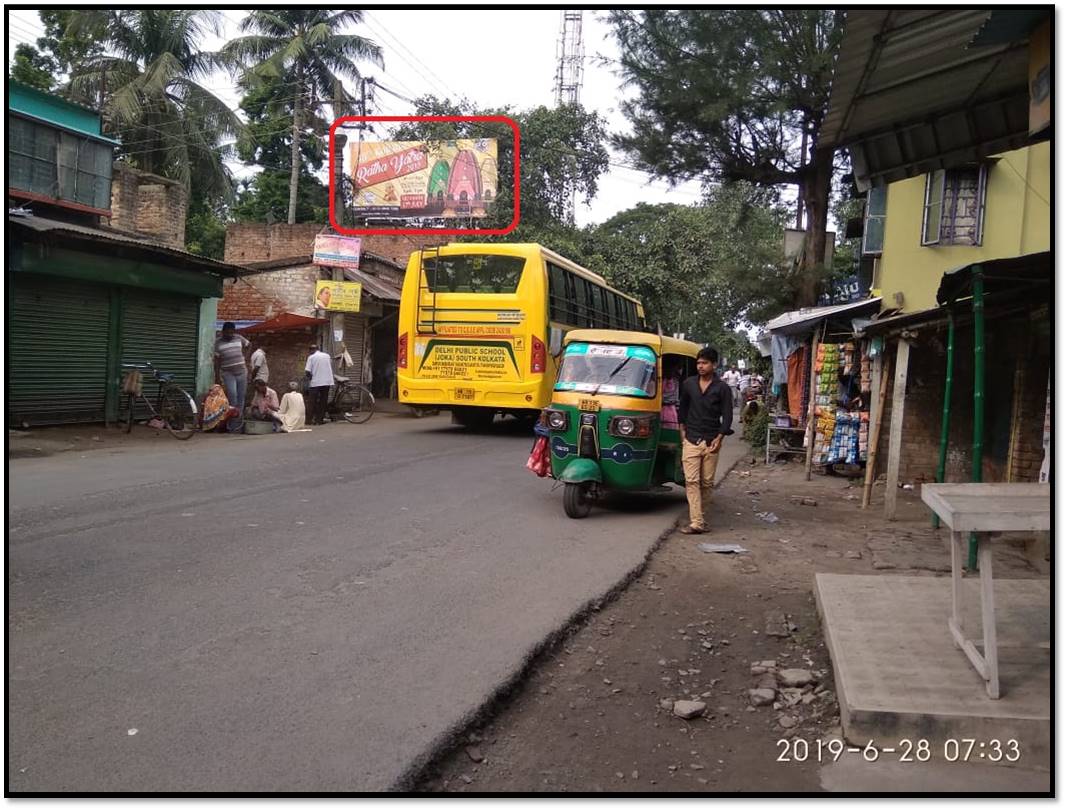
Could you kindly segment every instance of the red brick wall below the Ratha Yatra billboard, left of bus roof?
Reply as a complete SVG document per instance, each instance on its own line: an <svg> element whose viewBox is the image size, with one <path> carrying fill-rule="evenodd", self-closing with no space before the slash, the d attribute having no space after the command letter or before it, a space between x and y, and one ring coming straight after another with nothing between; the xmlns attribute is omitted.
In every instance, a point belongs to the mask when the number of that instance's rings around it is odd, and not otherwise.
<svg viewBox="0 0 1066 810"><path fill-rule="evenodd" d="M236 264L247 264L308 256L314 247L314 237L322 231L323 226L318 223L296 225L233 223L226 227L225 260ZM365 250L384 256L403 266L407 265L411 250L417 250L420 246L447 244L450 241L445 236L370 236L361 239Z"/></svg>

